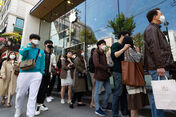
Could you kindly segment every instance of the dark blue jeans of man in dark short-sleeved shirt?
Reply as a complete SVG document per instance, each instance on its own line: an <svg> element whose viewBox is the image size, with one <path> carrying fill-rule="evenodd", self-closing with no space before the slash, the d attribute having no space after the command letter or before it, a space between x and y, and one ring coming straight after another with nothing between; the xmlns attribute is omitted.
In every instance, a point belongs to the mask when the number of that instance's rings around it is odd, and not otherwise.
<svg viewBox="0 0 176 117"><path fill-rule="evenodd" d="M119 116L119 99L123 91L122 74L113 72L114 77L114 91L112 100L112 114L113 116Z"/></svg>

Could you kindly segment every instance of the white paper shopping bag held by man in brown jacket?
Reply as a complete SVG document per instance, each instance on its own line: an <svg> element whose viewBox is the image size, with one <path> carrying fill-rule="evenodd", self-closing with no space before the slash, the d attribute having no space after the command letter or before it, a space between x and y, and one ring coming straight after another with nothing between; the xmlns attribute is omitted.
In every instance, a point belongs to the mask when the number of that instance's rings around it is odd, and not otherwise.
<svg viewBox="0 0 176 117"><path fill-rule="evenodd" d="M152 89L157 109L176 110L175 80L152 81Z"/></svg>

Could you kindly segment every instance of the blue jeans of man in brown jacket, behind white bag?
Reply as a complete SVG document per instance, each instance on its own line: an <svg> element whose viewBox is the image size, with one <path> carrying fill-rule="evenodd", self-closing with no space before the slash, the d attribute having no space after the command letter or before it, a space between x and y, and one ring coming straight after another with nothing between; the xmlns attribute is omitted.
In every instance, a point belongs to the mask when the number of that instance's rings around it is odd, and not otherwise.
<svg viewBox="0 0 176 117"><path fill-rule="evenodd" d="M158 74L156 70L150 70L149 74L152 77L152 80L158 80ZM169 78L169 72L166 71L166 76ZM165 77L160 77L161 80L165 80ZM151 109L152 109L152 117L164 117L164 111L160 110L160 109L156 109L155 106L155 101L154 101L154 96L153 96L153 92L149 92L149 100L151 100Z"/></svg>

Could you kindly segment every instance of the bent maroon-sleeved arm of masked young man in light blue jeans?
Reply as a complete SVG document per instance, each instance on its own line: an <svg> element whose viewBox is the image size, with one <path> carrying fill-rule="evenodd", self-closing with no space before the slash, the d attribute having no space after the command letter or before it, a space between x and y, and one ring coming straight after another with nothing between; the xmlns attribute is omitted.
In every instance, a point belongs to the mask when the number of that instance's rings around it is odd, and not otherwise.
<svg viewBox="0 0 176 117"><path fill-rule="evenodd" d="M97 52L94 52L93 54L93 63L94 63L95 69L98 68L104 71L108 70L108 66L104 66L100 64L100 55Z"/></svg>

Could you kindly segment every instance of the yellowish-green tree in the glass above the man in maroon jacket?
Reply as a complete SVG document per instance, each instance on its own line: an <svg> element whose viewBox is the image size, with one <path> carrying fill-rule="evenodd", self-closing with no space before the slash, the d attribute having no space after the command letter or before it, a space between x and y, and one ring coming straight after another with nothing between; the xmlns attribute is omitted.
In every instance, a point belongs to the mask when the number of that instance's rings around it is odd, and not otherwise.
<svg viewBox="0 0 176 117"><path fill-rule="evenodd" d="M95 34L93 33L92 30L90 29L83 29L81 32L80 32L80 38L81 38L81 42L85 42L85 35L86 35L86 39L87 39L87 44L88 45L92 45L92 44L95 44L97 43L97 39L95 37Z"/></svg>

